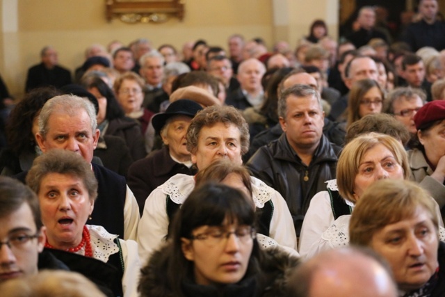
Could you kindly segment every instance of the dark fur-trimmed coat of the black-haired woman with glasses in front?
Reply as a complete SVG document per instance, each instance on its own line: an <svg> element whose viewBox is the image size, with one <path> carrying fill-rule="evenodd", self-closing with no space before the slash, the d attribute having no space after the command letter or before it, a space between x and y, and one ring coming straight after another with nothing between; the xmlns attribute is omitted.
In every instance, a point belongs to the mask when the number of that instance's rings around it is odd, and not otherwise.
<svg viewBox="0 0 445 297"><path fill-rule="evenodd" d="M171 259L166 248L154 252L149 261L141 269L138 291L145 297L173 297L175 296L168 281L166 281L167 265ZM183 282L184 296L186 297L281 297L285 295L285 286L290 271L298 266L296 257L289 256L280 248L268 248L260 251L260 269L257 272L248 271L247 276L237 284L229 284L225 287L200 286L193 282L193 278ZM177 297L177 296L175 296Z"/></svg>

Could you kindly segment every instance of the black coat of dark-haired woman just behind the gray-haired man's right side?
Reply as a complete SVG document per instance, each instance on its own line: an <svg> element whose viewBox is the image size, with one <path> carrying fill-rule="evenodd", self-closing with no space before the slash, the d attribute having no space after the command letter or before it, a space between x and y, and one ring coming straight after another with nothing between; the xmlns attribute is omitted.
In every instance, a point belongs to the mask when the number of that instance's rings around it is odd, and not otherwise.
<svg viewBox="0 0 445 297"><path fill-rule="evenodd" d="M105 135L113 135L122 138L130 150L133 161L144 158L145 152L144 138L140 131L138 122L130 118L117 118L108 122Z"/></svg>

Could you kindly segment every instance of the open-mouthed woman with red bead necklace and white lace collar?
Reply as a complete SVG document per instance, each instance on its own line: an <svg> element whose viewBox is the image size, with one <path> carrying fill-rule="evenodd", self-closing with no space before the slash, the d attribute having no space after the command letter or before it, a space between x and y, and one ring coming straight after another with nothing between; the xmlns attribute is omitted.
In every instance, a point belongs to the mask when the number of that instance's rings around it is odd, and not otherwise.
<svg viewBox="0 0 445 297"><path fill-rule="evenodd" d="M90 163L68 150L49 150L35 159L26 184L38 195L44 246L74 271L93 279L105 276L115 296L136 296L137 243L123 241L102 226L86 225L97 198ZM100 275L91 275L98 266Z"/></svg>

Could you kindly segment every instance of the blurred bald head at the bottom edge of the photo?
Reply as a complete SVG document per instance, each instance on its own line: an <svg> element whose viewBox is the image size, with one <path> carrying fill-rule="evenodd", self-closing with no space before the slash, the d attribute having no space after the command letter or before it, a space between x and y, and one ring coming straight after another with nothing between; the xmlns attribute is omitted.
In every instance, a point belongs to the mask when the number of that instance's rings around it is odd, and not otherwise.
<svg viewBox="0 0 445 297"><path fill-rule="evenodd" d="M309 259L296 269L289 284L293 297L397 296L389 268L370 251L351 247Z"/></svg>

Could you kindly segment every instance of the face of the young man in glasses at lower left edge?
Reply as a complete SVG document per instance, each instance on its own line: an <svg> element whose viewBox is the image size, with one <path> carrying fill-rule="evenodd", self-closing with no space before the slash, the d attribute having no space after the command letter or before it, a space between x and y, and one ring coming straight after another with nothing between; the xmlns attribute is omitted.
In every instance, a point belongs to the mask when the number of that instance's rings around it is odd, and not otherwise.
<svg viewBox="0 0 445 297"><path fill-rule="evenodd" d="M43 228L37 230L27 203L0 218L0 282L38 272L38 254L46 240Z"/></svg>

